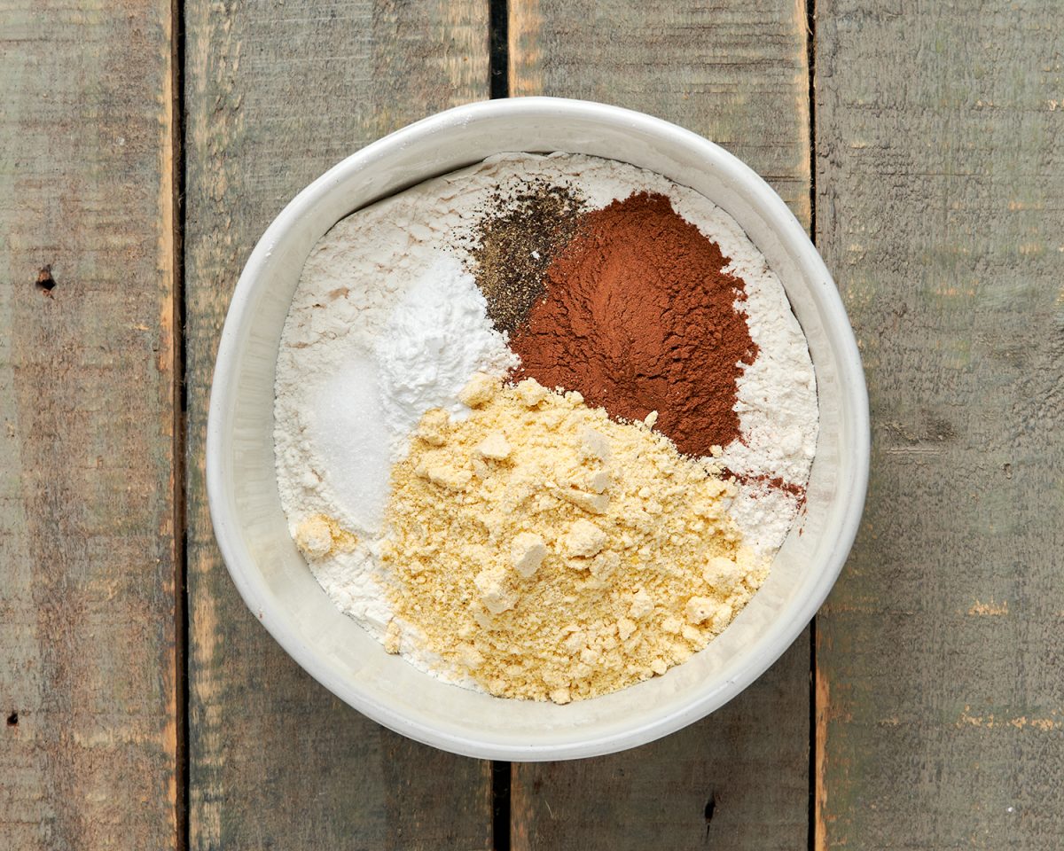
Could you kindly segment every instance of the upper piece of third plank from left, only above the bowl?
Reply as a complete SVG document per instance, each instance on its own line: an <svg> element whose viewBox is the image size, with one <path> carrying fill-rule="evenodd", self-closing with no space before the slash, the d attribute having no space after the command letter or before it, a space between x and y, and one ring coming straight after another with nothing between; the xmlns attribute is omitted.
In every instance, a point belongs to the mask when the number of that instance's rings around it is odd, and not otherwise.
<svg viewBox="0 0 1064 851"><path fill-rule="evenodd" d="M794 0L511 0L510 94L628 106L752 166L809 221L809 64Z"/></svg>

